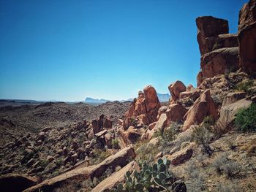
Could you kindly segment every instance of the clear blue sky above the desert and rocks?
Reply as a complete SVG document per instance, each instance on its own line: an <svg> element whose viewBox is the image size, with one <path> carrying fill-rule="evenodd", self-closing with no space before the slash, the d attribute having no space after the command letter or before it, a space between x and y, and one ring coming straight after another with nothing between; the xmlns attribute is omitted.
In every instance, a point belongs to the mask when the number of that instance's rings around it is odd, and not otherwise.
<svg viewBox="0 0 256 192"><path fill-rule="evenodd" d="M129 99L196 85L195 18L229 21L238 0L0 0L0 99Z"/></svg>

